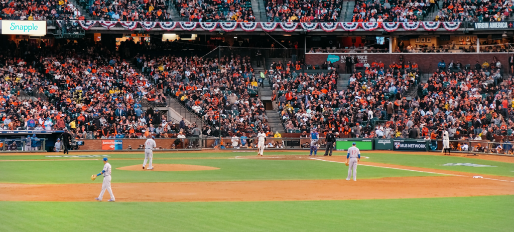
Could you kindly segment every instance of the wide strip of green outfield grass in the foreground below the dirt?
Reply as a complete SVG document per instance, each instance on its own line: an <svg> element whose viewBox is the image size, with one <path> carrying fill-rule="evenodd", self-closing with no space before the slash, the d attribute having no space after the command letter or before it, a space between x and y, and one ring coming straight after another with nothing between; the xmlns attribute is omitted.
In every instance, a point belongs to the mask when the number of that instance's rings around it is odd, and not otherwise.
<svg viewBox="0 0 514 232"><path fill-rule="evenodd" d="M0 231L512 231L514 196L292 202L0 202Z"/></svg>

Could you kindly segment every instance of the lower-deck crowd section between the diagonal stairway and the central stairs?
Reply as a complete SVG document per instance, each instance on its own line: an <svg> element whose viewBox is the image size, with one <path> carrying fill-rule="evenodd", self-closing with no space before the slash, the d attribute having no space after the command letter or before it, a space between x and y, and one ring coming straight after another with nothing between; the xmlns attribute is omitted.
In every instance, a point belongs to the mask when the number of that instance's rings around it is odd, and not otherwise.
<svg viewBox="0 0 514 232"><path fill-rule="evenodd" d="M207 122L204 136L251 137L260 130L270 130L264 104L258 98L260 77L255 75L249 56L204 59L141 55L136 63L155 79L159 93L176 98Z"/></svg>

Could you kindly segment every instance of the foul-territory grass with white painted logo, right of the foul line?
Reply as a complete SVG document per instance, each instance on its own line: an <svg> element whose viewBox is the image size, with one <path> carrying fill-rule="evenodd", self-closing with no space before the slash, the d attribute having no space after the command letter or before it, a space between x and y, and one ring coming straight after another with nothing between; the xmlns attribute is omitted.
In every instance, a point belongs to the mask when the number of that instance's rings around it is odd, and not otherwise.
<svg viewBox="0 0 514 232"><path fill-rule="evenodd" d="M384 153L367 153L365 156L370 157L366 162L396 164L411 167L425 167L440 170L464 171L470 173L514 177L514 163L480 160L466 157L449 157L449 156L430 156L421 154L384 154ZM469 166L442 166L448 163L472 163L483 164L497 167L469 167Z"/></svg>

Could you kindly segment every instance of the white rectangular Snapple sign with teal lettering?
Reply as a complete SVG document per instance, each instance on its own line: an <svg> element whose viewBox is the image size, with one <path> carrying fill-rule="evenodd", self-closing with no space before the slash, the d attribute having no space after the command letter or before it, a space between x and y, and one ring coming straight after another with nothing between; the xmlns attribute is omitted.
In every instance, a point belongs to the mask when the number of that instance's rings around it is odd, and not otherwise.
<svg viewBox="0 0 514 232"><path fill-rule="evenodd" d="M46 21L2 20L2 34L46 35Z"/></svg>

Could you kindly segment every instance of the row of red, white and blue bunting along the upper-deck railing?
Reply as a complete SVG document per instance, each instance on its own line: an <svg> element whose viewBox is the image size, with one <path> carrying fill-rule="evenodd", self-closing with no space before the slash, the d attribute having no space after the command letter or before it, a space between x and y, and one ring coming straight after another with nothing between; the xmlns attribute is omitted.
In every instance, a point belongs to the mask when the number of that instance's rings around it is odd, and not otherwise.
<svg viewBox="0 0 514 232"><path fill-rule="evenodd" d="M84 30L89 30L91 27L94 27L97 23L100 24L102 27L111 29L112 27L115 27L118 25L118 23L121 25L121 27L127 29L127 30L135 30L138 25L141 26L146 31L150 31L154 29L157 25L160 26L163 30L171 31L176 30L177 25L180 26L181 30L191 31L196 29L197 25L200 25L200 28L202 30L206 31L214 31L217 28L217 25L222 28L224 31L234 31L237 29L237 25L240 25L241 29L243 31L254 31L258 25L261 25L261 28L263 31L271 32L277 29L277 27L280 24L280 27L285 32L293 32L300 28L306 31L314 31L318 28L318 25L320 28L325 32L333 32L337 30L338 25L341 25L341 28L345 31L355 31L359 27L361 27L365 31L372 31L379 28L383 28L384 31L393 32L398 30L400 24L403 27L403 29L407 31L412 30L418 30L419 26L423 25L423 28L426 31L435 31L437 30L440 25L442 24L443 27L447 31L455 31L461 26L461 22L408 22L408 23L396 23L396 22L388 22L388 23L376 23L376 22L369 22L369 23L236 23L236 22L223 22L223 23L216 23L216 22L118 22L118 21L71 21L78 23ZM64 21L57 21L58 27L64 26ZM119 26L118 26L119 27ZM198 29L200 29L198 28Z"/></svg>

